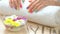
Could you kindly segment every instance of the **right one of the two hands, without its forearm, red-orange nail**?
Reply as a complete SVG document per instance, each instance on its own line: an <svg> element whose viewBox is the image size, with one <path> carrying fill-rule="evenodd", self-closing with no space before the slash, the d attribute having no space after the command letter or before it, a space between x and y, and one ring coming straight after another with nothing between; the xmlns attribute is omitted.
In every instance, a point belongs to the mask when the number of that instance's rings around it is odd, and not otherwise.
<svg viewBox="0 0 60 34"><path fill-rule="evenodd" d="M35 0L27 7L27 9L29 10L30 13L32 13L33 11L41 10L46 5L48 5L48 1Z"/></svg>

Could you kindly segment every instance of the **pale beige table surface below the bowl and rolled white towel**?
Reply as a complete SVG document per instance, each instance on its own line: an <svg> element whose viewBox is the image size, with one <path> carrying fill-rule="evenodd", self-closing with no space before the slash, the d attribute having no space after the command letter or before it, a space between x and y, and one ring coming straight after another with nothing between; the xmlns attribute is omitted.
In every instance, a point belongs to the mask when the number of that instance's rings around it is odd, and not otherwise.
<svg viewBox="0 0 60 34"><path fill-rule="evenodd" d="M28 22L27 24L27 31L29 31L30 34L34 34L36 31L36 34L53 34L53 29L51 29L50 31L50 28L49 27L45 27L45 28L42 28L41 25L38 25L38 24L34 24L32 22ZM8 31L4 25L3 25L3 22L2 20L0 19L0 34L27 34L27 32L25 30L25 28L22 28L19 32L11 32L11 31Z"/></svg>

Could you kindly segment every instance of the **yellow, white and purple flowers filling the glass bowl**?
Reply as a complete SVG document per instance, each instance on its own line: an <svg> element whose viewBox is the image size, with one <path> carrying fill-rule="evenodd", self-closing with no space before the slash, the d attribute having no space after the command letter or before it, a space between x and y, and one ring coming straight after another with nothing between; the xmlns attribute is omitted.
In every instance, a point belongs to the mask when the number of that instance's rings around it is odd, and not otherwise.
<svg viewBox="0 0 60 34"><path fill-rule="evenodd" d="M9 26L13 26L13 27L19 27L19 26L25 24L25 20L26 20L26 18L24 18L24 17L12 15L12 16L5 18L4 24L9 25Z"/></svg>

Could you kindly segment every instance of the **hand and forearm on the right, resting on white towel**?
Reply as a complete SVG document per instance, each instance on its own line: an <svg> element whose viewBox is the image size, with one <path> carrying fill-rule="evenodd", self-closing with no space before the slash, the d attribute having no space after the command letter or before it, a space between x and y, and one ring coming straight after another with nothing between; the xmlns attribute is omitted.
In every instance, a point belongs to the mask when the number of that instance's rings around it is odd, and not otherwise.
<svg viewBox="0 0 60 34"><path fill-rule="evenodd" d="M37 0L38 1L38 0ZM35 4L34 4L35 3ZM40 0L38 2L34 1L28 6L29 11L39 11L45 6L60 6L60 2L54 1L54 0Z"/></svg>

